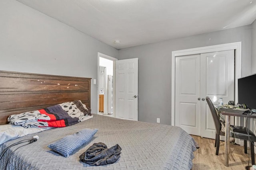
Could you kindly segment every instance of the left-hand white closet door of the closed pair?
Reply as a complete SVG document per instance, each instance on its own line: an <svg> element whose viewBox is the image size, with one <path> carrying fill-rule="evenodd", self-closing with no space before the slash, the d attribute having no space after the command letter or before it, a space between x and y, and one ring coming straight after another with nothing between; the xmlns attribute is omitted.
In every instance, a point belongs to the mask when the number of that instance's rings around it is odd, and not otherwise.
<svg viewBox="0 0 256 170"><path fill-rule="evenodd" d="M200 55L175 59L175 126L200 136Z"/></svg>

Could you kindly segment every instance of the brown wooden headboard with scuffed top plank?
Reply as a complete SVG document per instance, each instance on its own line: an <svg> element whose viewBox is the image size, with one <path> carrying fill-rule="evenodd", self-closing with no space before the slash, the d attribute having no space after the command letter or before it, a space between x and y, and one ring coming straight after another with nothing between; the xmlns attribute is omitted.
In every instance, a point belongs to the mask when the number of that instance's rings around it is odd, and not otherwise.
<svg viewBox="0 0 256 170"><path fill-rule="evenodd" d="M72 100L90 107L91 78L0 71L0 125L9 115Z"/></svg>

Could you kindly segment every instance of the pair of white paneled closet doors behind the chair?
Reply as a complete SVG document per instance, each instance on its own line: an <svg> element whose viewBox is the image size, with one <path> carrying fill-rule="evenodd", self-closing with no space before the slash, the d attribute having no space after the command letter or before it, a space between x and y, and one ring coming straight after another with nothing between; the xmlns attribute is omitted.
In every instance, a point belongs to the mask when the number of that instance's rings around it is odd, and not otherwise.
<svg viewBox="0 0 256 170"><path fill-rule="evenodd" d="M214 104L234 100L234 50L175 58L175 125L191 135L215 139Z"/></svg>

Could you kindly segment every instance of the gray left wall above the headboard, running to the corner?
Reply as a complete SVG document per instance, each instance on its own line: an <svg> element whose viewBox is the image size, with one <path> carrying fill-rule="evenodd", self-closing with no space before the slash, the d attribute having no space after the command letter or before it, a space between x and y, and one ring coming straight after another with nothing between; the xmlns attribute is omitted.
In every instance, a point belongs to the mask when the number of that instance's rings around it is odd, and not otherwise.
<svg viewBox="0 0 256 170"><path fill-rule="evenodd" d="M0 0L0 70L97 79L98 52L118 51L16 0ZM92 84L92 112L97 86Z"/></svg>

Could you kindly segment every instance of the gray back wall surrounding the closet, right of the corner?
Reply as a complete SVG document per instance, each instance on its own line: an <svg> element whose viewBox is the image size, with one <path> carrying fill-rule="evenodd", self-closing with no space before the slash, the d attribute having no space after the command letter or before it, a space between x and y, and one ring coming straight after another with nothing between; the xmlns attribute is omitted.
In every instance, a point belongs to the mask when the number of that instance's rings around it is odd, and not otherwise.
<svg viewBox="0 0 256 170"><path fill-rule="evenodd" d="M242 76L251 73L251 25L130 47L118 59L139 59L138 120L171 124L172 51L242 41Z"/></svg>

